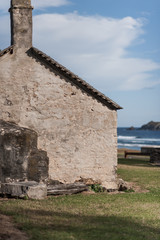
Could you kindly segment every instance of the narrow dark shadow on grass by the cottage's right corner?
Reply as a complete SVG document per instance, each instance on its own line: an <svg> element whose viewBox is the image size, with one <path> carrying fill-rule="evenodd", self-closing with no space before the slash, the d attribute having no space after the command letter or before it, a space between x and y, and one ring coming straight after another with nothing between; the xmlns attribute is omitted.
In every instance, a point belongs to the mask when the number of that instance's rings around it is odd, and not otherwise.
<svg viewBox="0 0 160 240"><path fill-rule="evenodd" d="M149 159L141 158L118 158L118 164L137 166L137 167L155 167L149 162Z"/></svg>

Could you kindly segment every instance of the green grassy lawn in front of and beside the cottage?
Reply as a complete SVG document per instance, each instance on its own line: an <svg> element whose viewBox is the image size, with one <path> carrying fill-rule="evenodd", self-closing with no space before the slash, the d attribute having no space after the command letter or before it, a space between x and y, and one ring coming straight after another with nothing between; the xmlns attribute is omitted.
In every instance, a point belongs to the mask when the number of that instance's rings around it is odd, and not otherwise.
<svg viewBox="0 0 160 240"><path fill-rule="evenodd" d="M149 192L0 201L31 240L160 240L160 167L119 159L118 175Z"/></svg>

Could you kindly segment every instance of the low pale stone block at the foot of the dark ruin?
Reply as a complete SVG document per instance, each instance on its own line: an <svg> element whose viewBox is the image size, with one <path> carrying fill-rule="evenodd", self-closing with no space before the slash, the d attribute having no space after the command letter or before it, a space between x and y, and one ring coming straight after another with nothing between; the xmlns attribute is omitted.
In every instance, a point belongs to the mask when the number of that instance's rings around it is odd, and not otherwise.
<svg viewBox="0 0 160 240"><path fill-rule="evenodd" d="M44 199L47 196L47 186L35 181L2 183L1 194L18 198Z"/></svg>

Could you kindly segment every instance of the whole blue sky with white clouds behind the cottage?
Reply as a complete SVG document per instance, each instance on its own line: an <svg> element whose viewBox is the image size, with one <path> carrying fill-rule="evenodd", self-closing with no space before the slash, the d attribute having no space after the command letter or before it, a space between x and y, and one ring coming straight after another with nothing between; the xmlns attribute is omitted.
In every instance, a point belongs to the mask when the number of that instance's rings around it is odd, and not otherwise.
<svg viewBox="0 0 160 240"><path fill-rule="evenodd" d="M0 0L0 49L10 44ZM32 0L33 44L124 109L118 126L160 121L159 0Z"/></svg>

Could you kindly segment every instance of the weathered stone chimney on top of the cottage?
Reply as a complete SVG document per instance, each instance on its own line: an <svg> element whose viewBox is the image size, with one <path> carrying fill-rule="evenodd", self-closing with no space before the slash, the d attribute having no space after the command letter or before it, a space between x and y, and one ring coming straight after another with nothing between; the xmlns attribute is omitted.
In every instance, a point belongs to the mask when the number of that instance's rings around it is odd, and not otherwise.
<svg viewBox="0 0 160 240"><path fill-rule="evenodd" d="M11 45L16 48L32 47L31 0L11 0Z"/></svg>

